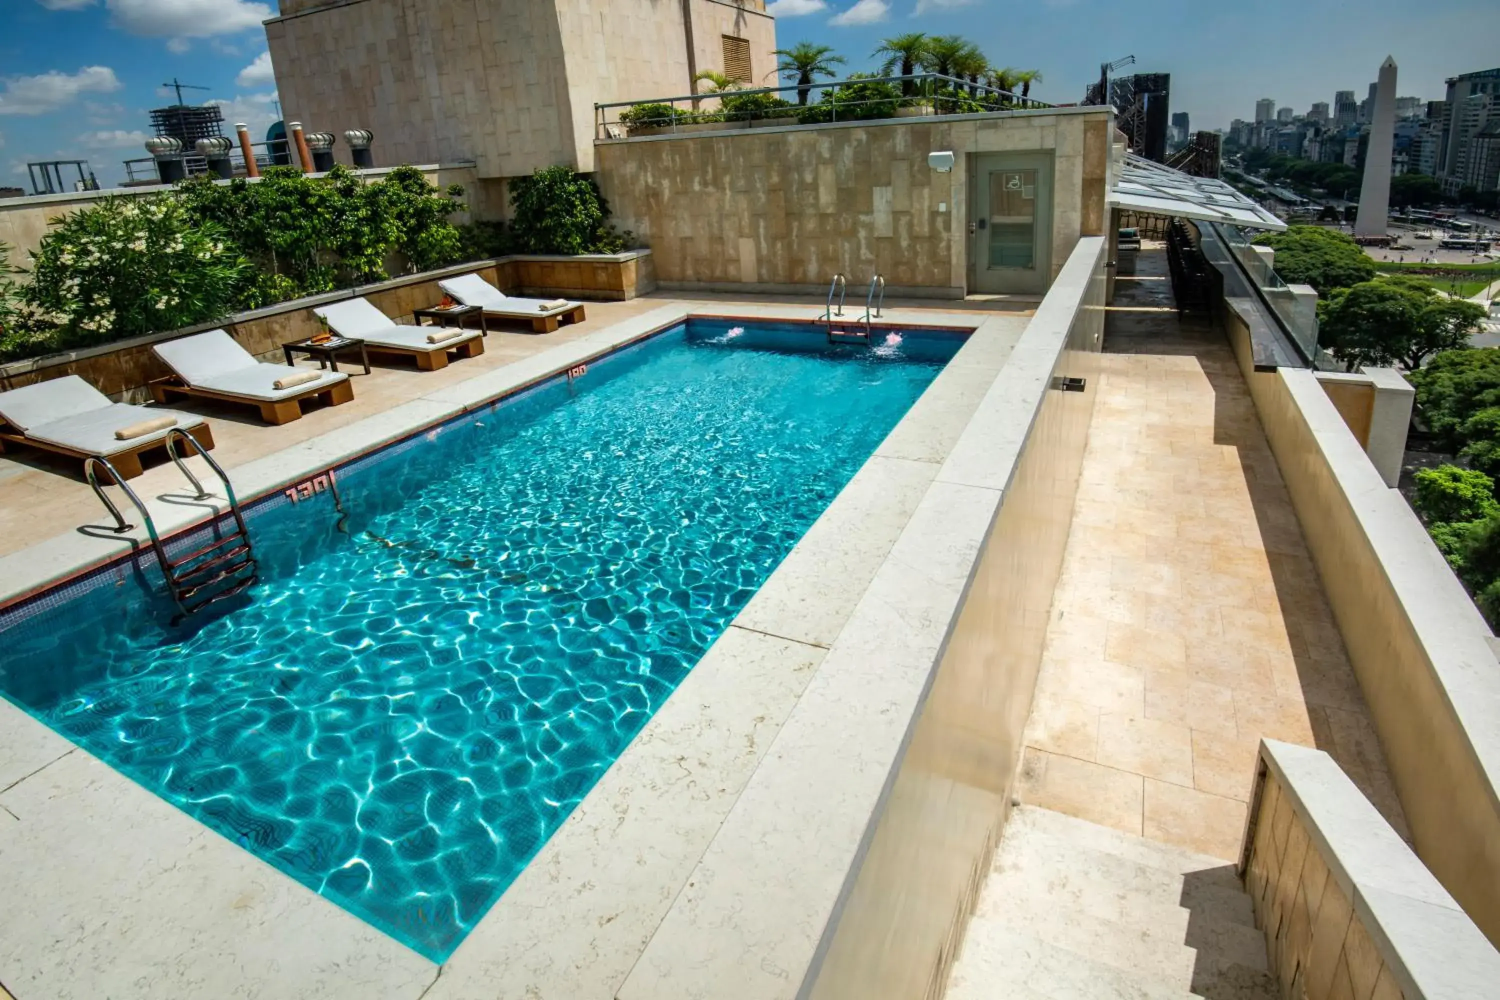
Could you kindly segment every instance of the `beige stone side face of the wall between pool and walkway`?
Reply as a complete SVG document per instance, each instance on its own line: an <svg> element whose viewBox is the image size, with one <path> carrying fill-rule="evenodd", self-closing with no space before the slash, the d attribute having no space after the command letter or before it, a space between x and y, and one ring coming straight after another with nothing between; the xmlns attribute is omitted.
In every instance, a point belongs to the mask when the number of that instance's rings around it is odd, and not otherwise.
<svg viewBox="0 0 1500 1000"><path fill-rule="evenodd" d="M1053 288L981 403L999 393L1029 433L826 958L801 994L810 1000L938 997L957 957L1010 813L1094 414L1095 393L1048 388L1053 376L1098 376L1106 268L1094 243L1076 261L1080 280Z"/></svg>

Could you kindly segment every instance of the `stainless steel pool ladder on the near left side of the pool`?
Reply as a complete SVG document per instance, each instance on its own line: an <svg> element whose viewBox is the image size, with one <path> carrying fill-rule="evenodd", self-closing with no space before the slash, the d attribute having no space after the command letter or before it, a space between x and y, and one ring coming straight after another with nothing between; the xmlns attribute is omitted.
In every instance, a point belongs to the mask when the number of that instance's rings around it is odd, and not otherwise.
<svg viewBox="0 0 1500 1000"><path fill-rule="evenodd" d="M208 492L202 489L202 483L198 477L183 463L182 456L177 454L177 442L186 441L192 445L192 450L202 456L213 469L219 481L224 483L224 495L230 501L230 514L234 517L234 529L225 534L222 538L202 546L194 552L189 552L180 559L172 559L166 555L166 549L162 546L162 538L156 532L156 522L152 519L152 513L146 510L146 504L141 498L135 495L130 484L124 481L118 469L110 463L110 459L102 456L90 457L84 462L84 475L88 478L88 486L93 487L94 496L105 505L105 510L114 517L116 534L124 534L130 531L135 525L126 523L124 517L120 514L120 508L116 507L110 495L104 492L99 486L99 466L110 474L114 484L118 486L124 495L135 505L135 510L141 514L141 523L146 525L146 532L152 537L152 547L156 550L156 561L162 567L162 576L166 577L166 592L171 595L172 603L177 606L177 616L172 619L174 624L188 618L195 612L222 601L228 597L240 594L248 586L255 583L258 579L258 568L255 562L255 549L250 544L250 534L244 528L244 517L240 513L240 501L234 495L234 486L230 484L230 477L225 475L224 468L214 460L198 439L192 436L190 432L182 427L174 427L166 432L165 444L166 454L171 456L172 465L192 483L195 490L194 499L207 499ZM214 517L214 522L220 516ZM220 586L226 585L226 586Z"/></svg>

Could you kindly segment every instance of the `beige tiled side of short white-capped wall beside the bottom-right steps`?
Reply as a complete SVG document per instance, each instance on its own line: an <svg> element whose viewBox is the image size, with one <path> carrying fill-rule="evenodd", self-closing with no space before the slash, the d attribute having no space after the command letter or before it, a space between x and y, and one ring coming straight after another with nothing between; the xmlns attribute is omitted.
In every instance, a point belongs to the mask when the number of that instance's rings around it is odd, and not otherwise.
<svg viewBox="0 0 1500 1000"><path fill-rule="evenodd" d="M1395 973L1275 775L1252 823L1245 891L1281 996L1401 1000Z"/></svg>

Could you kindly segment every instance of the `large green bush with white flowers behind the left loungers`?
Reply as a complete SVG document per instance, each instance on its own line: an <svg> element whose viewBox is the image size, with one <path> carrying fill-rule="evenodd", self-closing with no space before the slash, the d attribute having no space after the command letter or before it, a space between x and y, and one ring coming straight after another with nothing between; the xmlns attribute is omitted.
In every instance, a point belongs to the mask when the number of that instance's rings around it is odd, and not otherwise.
<svg viewBox="0 0 1500 1000"><path fill-rule="evenodd" d="M33 322L68 348L176 330L225 316L249 262L213 223L171 195L105 198L60 220L32 258Z"/></svg>

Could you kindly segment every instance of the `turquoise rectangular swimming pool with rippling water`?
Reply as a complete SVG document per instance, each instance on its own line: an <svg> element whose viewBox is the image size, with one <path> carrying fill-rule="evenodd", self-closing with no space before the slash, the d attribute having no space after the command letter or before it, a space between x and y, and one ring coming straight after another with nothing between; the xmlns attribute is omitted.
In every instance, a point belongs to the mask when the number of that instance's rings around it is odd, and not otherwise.
<svg viewBox="0 0 1500 1000"><path fill-rule="evenodd" d="M8 609L0 691L441 961L962 336L876 342L662 331L249 504L212 621L147 561Z"/></svg>

